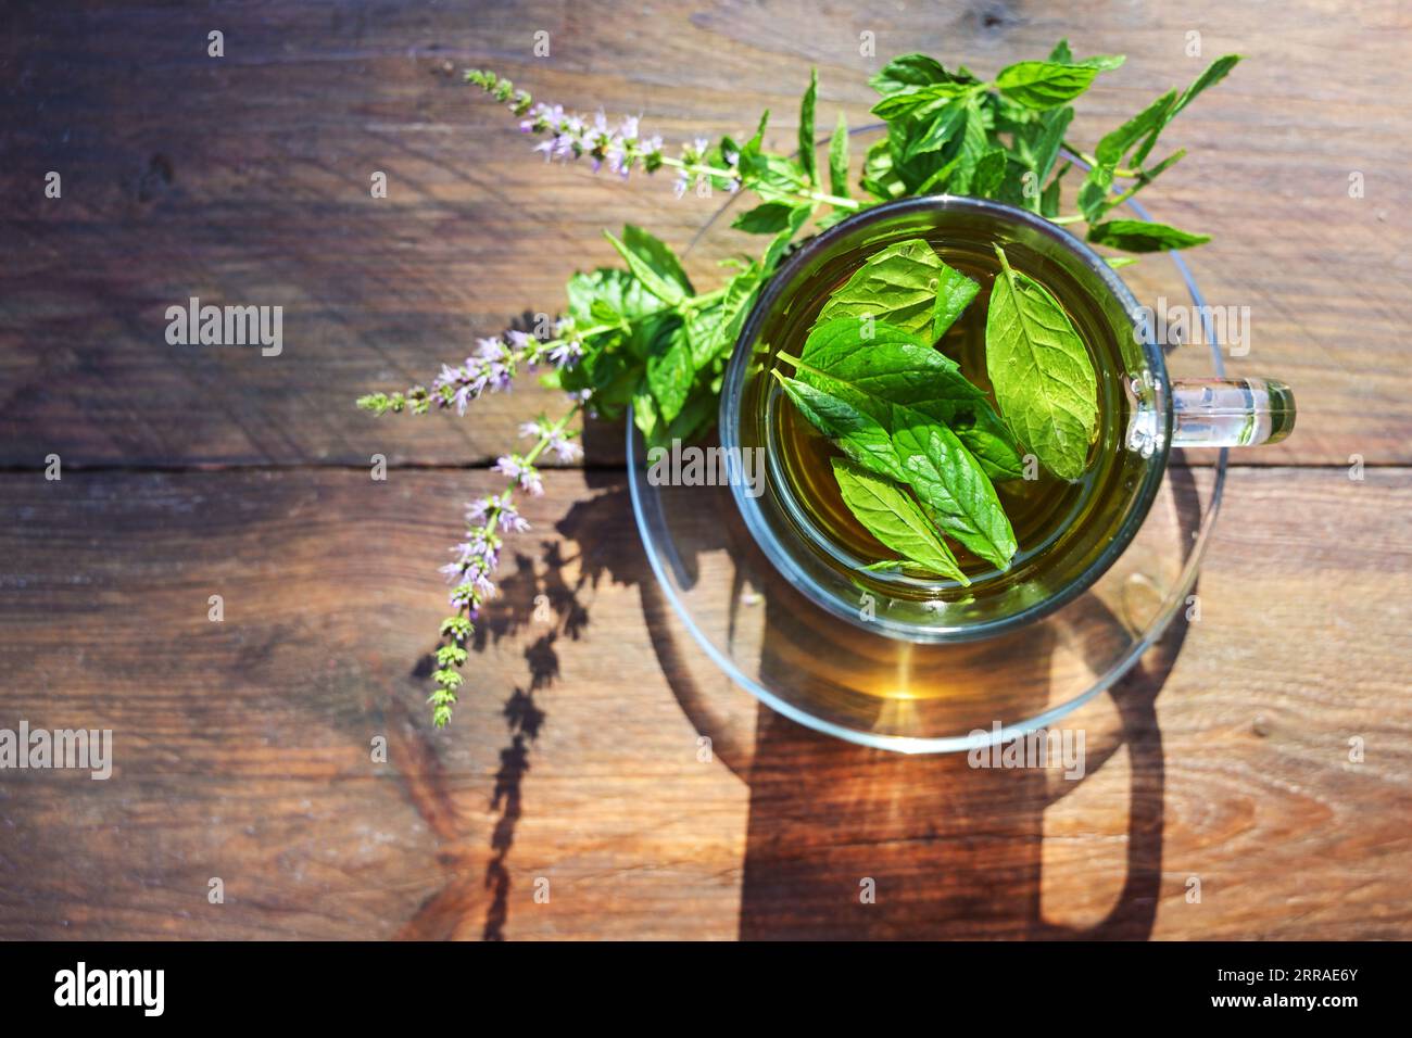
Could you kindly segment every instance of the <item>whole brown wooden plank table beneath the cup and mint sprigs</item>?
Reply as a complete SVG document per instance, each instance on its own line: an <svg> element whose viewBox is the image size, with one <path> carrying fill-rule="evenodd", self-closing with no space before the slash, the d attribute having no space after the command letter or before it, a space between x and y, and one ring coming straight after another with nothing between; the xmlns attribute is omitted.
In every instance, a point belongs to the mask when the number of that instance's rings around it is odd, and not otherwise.
<svg viewBox="0 0 1412 1038"><path fill-rule="evenodd" d="M1399 6L6 14L0 727L113 729L116 765L106 782L0 772L0 936L1412 936ZM435 568L552 398L490 397L460 421L374 421L352 400L558 308L573 270L611 261L602 227L682 246L714 205L544 165L459 71L641 112L669 141L768 106L785 147L810 64L822 121L867 119L880 59L861 32L884 59L986 72L1060 35L1125 52L1080 109L1084 141L1211 56L1250 55L1171 130L1190 155L1147 198L1216 234L1190 261L1213 301L1251 306L1233 367L1299 393L1293 438L1234 459L1202 621L1094 705L1123 746L1058 799L764 709L702 763L621 429L590 428L587 463L530 504L463 703L432 730ZM284 353L168 345L164 311L192 295L282 305ZM548 623L530 619L539 595Z"/></svg>

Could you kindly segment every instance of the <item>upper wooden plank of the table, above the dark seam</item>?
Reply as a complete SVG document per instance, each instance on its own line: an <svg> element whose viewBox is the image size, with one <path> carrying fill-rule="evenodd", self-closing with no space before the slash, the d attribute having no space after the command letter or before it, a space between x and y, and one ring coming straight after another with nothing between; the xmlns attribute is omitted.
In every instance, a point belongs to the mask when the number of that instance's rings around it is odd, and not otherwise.
<svg viewBox="0 0 1412 1038"><path fill-rule="evenodd" d="M777 113L788 147L809 64L820 119L868 120L867 76L921 49L980 71L1048 51L1118 51L1082 106L1101 133L1211 56L1250 61L1172 127L1190 151L1144 195L1211 232L1192 253L1216 305L1250 306L1241 373L1278 376L1299 434L1240 463L1412 462L1412 133L1408 13L1265 4L943 3L895 7L531 0L474 7L352 0L219 11L18 4L0 40L0 465L473 465L514 438L537 388L467 421L377 424L370 388L426 380L474 335L561 305L576 268L611 261L603 227L635 220L683 247L716 202L545 167L513 121L460 85L493 65L541 97L641 112L669 141ZM219 24L217 24L219 23ZM206 55L222 28L223 58ZM548 31L551 54L532 56ZM1202 34L1202 58L1186 55ZM860 55L871 32L877 56ZM1346 55L1347 59L1339 59ZM45 199L48 171L62 199ZM385 199L370 196L374 171ZM1361 174L1364 198L1348 196ZM724 246L723 246L724 247ZM703 284L710 256L693 263ZM1175 299L1165 260L1127 271ZM164 311L196 295L285 308L285 352L179 347ZM609 453L590 458L613 463Z"/></svg>

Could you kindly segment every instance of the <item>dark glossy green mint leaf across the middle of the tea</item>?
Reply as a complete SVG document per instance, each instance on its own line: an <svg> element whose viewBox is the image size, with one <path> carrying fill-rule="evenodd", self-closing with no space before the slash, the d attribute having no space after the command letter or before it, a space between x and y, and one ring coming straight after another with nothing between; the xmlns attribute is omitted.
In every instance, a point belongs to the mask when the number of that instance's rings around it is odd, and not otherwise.
<svg viewBox="0 0 1412 1038"><path fill-rule="evenodd" d="M799 369L802 381L849 401L880 425L891 422L892 404L904 404L950 428L991 479L1024 475L1015 439L990 400L925 339L884 323L863 339L861 322L842 318L816 325L802 353L781 359Z"/></svg>

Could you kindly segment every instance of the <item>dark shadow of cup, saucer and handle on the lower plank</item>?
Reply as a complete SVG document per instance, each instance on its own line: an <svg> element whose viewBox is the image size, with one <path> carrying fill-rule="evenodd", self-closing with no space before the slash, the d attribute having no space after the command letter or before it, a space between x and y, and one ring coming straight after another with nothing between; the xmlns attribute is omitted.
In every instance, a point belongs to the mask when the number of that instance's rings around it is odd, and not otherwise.
<svg viewBox="0 0 1412 1038"><path fill-rule="evenodd" d="M1178 460L1142 535L1189 542L1203 482L1209 475ZM794 688L809 709L864 730L905 730L911 713L940 702L957 724L973 722L981 732L1042 715L1056 706L1055 688L1101 671L1162 606L1156 582L1138 566L1120 575L1107 599L1086 593L1022 638L945 647L870 638L782 580L740 524L729 490L719 490L662 489L692 496L674 515L678 531L683 515L692 517L690 535L678 538L690 545L675 559L679 586L717 589L709 602L693 600L695 619L720 633L733 658L747 658L761 685L782 695ZM758 709L683 631L650 576L641 596L678 702L713 754L750 787L741 938L1139 939L1151 932L1163 821L1155 700L1186 636L1180 617L1107 688L1100 700L1107 717L1083 708L1049 727L1051 737L1082 733L1080 774L1066 775L1053 760L1005 767L1000 751L907 756L857 746ZM1051 924L1042 909L1045 811L1123 750L1121 890L1093 925Z"/></svg>

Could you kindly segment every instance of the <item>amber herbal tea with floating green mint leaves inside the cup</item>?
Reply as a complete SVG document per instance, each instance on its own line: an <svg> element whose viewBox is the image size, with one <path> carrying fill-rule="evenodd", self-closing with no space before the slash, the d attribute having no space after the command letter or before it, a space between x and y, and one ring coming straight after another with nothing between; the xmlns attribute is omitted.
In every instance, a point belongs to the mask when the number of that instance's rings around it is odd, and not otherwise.
<svg viewBox="0 0 1412 1038"><path fill-rule="evenodd" d="M767 401L771 462L837 568L890 593L1014 579L1121 513L1118 343L1062 270L962 234L858 258L805 287Z"/></svg>

